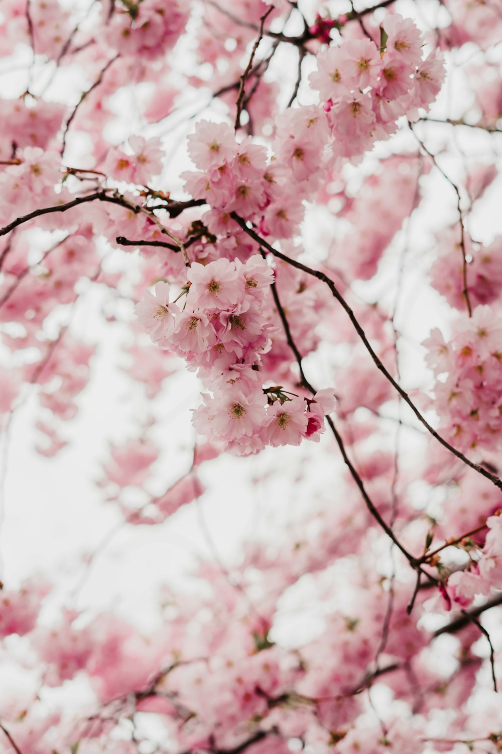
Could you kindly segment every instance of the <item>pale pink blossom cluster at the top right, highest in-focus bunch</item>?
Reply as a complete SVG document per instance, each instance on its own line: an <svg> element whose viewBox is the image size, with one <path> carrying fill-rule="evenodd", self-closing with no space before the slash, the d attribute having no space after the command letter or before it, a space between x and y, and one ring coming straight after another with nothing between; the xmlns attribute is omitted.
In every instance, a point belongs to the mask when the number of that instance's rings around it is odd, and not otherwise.
<svg viewBox="0 0 502 754"><path fill-rule="evenodd" d="M423 38L412 20L393 14L380 28L380 48L368 38L330 45L309 77L324 103L336 158L366 152L375 139L394 133L401 115L414 119L443 82L442 57L433 51L422 60Z"/></svg>

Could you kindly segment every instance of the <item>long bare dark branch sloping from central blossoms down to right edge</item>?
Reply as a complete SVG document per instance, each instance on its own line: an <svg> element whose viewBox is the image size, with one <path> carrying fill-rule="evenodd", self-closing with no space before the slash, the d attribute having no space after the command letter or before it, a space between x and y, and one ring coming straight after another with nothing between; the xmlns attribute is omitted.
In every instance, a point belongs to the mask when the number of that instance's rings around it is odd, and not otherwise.
<svg viewBox="0 0 502 754"><path fill-rule="evenodd" d="M375 351L373 351L373 348L370 345L370 342L367 339L366 334L364 333L364 329L361 327L361 325L358 323L354 312L348 305L348 303L343 298L342 294L339 293L338 288L336 287L336 284L333 280L331 280L330 277L328 277L324 272L321 272L320 270L314 270L311 267L308 267L307 265L303 265L302 262L297 262L297 259L291 259L291 257L286 256L285 254L281 253L277 249L274 249L268 241L265 241L263 238L261 238L256 231L253 230L253 228L248 228L248 225L246 224L245 220L242 219L239 215L237 215L235 212L230 213L230 216L232 219L234 219L237 224L242 228L245 233L248 234L251 238L254 239L254 241L257 241L257 244L260 244L263 246L269 253L271 253L273 256L276 256L278 259L282 259L283 262L286 262L288 265L291 265L292 267L296 267L299 270L302 270L303 272L306 272L309 275L312 275L312 277L317 277L318 280L321 280L323 283L327 285L327 287L330 289L331 293L333 294L333 297L336 299L336 301L339 302L340 305L342 305L342 308L345 309L346 313L348 314L349 319L351 320L351 323L354 326L354 329L357 332L357 335L361 338L362 342L364 343L368 353L373 359L373 362L375 363L377 369L379 369L380 372L385 376L385 379L388 379L388 381L391 383L391 385L394 387L394 389L400 394L400 396L403 398L403 400L408 404L410 409L412 409L412 412L415 414L416 418L418 418L418 421L421 422L422 425L424 425L424 428L427 429L427 431L436 438L438 443L441 443L441 445L448 449L449 452L451 452L453 455L456 456L460 461L463 461L464 464L472 468L473 470L477 471L478 474L481 474L482 477L485 477L485 479L488 479L491 481L494 486L496 486L498 489L502 489L502 481L498 477L496 477L494 474L491 474L491 472L485 470L482 466L479 466L478 464L473 463L473 461L470 461L467 456L464 455L460 450L457 450L452 445L450 445L446 440L444 440L443 437L441 437L440 434L437 433L437 431L431 427L429 422L427 421L424 416L421 415L421 413L418 411L418 408L415 406L415 403L412 402L409 395L406 393L406 391L401 388L401 386L394 380L393 376L390 372L388 372L388 369L385 368L382 361L379 359Z"/></svg>

